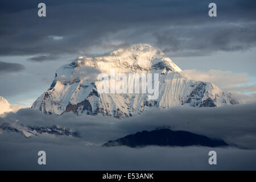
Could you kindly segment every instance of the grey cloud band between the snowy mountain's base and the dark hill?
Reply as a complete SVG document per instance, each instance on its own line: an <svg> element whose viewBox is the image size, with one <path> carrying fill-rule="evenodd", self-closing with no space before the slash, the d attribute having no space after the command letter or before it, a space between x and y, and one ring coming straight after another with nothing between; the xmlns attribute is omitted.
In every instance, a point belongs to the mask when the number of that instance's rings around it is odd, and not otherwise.
<svg viewBox="0 0 256 182"><path fill-rule="evenodd" d="M0 122L22 123L27 126L58 125L77 130L82 140L102 144L142 130L171 127L210 138L221 138L242 148L256 148L256 104L230 105L216 108L149 110L131 118L115 119L73 114L45 115L38 110L21 109L0 117ZM19 122L17 122L19 121Z"/></svg>

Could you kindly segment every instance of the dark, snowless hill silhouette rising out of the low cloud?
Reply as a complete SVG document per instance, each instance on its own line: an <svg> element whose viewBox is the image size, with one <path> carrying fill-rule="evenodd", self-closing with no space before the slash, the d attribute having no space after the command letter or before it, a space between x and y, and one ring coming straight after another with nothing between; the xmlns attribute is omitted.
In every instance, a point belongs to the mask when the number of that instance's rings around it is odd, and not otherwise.
<svg viewBox="0 0 256 182"><path fill-rule="evenodd" d="M153 131L142 131L133 135L110 140L105 143L105 147L128 146L128 147L144 147L144 146L207 146L220 147L228 146L224 140L210 139L204 135L197 135L188 131L172 131L170 129L161 129Z"/></svg>

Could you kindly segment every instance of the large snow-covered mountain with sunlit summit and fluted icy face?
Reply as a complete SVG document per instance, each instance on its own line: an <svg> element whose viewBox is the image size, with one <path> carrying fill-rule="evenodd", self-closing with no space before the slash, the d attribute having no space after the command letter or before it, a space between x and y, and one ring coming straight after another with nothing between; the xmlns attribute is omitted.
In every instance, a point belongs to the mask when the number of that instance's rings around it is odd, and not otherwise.
<svg viewBox="0 0 256 182"><path fill-rule="evenodd" d="M100 93L100 73L159 73L159 97L149 100L147 93ZM77 115L99 113L116 118L131 117L149 107L214 107L238 104L232 94L210 82L194 81L180 75L181 69L158 48L135 44L108 55L81 56L55 73L50 88L32 105L43 113ZM141 84L141 83L140 83ZM129 88L129 82L127 88Z"/></svg>

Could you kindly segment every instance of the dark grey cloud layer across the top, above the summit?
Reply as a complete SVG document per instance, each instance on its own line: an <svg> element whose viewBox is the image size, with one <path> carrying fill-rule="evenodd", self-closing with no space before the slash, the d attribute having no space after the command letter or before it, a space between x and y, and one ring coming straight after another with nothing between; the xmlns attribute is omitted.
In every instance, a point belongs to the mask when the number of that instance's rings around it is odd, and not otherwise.
<svg viewBox="0 0 256 182"><path fill-rule="evenodd" d="M177 56L255 47L255 1L216 1L217 18L208 16L211 1L45 1L46 18L37 16L38 2L1 2L0 55L42 61L112 47L113 40L151 43Z"/></svg>

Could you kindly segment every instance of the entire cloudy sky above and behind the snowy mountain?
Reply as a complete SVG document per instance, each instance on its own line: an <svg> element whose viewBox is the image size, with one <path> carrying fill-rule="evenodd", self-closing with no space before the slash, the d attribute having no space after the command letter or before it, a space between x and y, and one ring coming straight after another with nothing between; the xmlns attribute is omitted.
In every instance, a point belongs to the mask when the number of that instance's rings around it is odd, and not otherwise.
<svg viewBox="0 0 256 182"><path fill-rule="evenodd" d="M60 65L134 43L159 47L188 77L255 94L256 2L214 1L209 17L210 2L2 0L0 96L31 105Z"/></svg>

